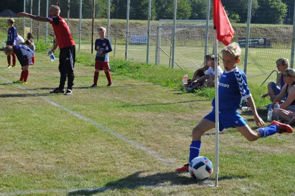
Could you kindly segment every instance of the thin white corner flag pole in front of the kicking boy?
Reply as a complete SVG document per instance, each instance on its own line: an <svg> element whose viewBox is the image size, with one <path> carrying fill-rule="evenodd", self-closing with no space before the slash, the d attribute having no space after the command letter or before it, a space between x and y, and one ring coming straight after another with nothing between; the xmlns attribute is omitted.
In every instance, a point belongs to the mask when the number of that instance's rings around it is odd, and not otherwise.
<svg viewBox="0 0 295 196"><path fill-rule="evenodd" d="M219 157L219 105L218 105L218 55L217 55L217 34L214 26L214 70L215 70L215 187L218 187L218 157Z"/></svg>

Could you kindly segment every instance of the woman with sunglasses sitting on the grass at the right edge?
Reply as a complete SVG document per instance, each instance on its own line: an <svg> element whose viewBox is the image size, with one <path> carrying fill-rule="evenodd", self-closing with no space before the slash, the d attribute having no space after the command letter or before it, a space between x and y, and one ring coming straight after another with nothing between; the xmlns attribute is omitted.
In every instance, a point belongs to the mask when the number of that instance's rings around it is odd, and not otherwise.
<svg viewBox="0 0 295 196"><path fill-rule="evenodd" d="M280 104L280 109L278 109L276 113L281 119L290 122L295 113L295 70L292 68L285 70L283 78L285 85L280 94L273 100L270 107L273 108L275 102L280 102L286 97L287 99ZM287 118L287 116L289 116L289 118Z"/></svg>

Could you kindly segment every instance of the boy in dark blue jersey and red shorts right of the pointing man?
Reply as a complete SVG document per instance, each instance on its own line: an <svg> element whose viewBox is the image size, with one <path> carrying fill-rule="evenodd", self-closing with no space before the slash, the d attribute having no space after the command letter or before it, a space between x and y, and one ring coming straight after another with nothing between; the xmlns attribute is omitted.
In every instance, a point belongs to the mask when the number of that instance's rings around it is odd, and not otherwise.
<svg viewBox="0 0 295 196"><path fill-rule="evenodd" d="M108 85L107 86L113 86L111 73L110 73L110 65L109 65L109 52L111 52L112 45L111 41L106 38L107 30L105 27L99 27L98 33L100 39L95 40L95 46L94 49L97 51L95 56L95 72L93 77L93 84L91 87L97 86L97 80L98 80L98 74L99 71L104 71L107 79L108 79Z"/></svg>

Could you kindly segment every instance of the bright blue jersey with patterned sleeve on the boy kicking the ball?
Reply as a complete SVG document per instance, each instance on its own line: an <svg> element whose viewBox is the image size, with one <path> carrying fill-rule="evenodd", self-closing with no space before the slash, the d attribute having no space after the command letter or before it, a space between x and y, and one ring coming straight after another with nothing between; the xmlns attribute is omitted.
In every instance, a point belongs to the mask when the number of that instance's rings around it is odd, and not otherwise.
<svg viewBox="0 0 295 196"><path fill-rule="evenodd" d="M237 109L241 99L251 97L246 75L238 68L224 71L218 84L219 110ZM215 98L212 101L215 108Z"/></svg>

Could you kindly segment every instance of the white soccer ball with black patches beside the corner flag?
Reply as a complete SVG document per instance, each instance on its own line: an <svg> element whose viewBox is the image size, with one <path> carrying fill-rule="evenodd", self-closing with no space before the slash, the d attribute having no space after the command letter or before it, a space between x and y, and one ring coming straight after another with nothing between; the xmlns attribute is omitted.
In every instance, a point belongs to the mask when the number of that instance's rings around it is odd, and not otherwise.
<svg viewBox="0 0 295 196"><path fill-rule="evenodd" d="M213 165L204 156L194 158L188 167L190 175L197 180L205 180L213 173Z"/></svg>

